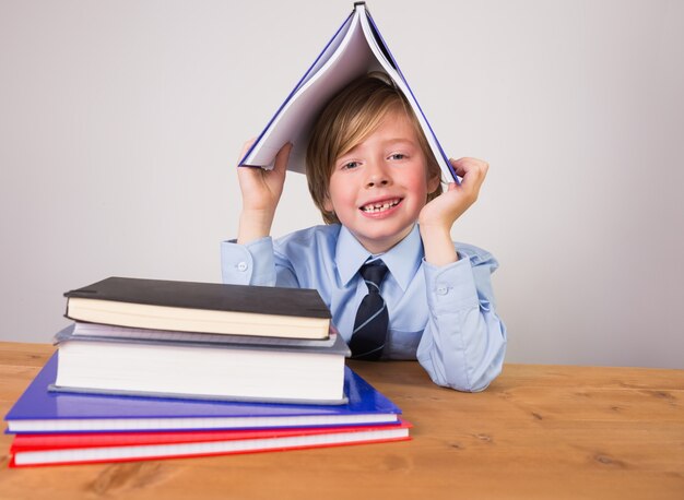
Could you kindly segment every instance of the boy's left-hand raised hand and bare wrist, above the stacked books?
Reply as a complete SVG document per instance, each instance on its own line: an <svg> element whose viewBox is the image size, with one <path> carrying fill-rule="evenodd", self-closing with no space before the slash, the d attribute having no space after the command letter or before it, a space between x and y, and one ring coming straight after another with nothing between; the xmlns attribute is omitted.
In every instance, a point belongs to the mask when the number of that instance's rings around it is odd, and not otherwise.
<svg viewBox="0 0 684 500"><path fill-rule="evenodd" d="M240 158L253 143L245 143ZM272 170L259 167L238 167L237 178L243 193L237 242L255 241L271 234L275 209L283 192L285 171L292 144L287 143L278 152Z"/></svg>

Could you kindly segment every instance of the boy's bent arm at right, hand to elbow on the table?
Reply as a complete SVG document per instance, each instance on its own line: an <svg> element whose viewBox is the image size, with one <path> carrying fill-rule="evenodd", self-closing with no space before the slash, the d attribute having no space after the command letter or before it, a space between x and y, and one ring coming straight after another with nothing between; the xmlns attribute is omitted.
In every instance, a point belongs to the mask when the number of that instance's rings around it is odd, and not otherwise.
<svg viewBox="0 0 684 500"><path fill-rule="evenodd" d="M459 255L451 226L477 200L488 164L475 158L450 162L461 183L450 183L418 217L429 320L417 358L435 383L481 391L500 372L506 349L490 277L497 263L482 251Z"/></svg>

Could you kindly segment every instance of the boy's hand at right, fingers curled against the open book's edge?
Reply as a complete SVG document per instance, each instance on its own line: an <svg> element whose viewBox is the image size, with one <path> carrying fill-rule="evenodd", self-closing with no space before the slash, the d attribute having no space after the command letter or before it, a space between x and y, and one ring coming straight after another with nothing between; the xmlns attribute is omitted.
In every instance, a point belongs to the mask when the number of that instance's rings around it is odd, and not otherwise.
<svg viewBox="0 0 684 500"><path fill-rule="evenodd" d="M449 159L460 186L450 182L446 192L427 203L418 215L421 229L451 230L451 226L475 201L490 164L477 158Z"/></svg>

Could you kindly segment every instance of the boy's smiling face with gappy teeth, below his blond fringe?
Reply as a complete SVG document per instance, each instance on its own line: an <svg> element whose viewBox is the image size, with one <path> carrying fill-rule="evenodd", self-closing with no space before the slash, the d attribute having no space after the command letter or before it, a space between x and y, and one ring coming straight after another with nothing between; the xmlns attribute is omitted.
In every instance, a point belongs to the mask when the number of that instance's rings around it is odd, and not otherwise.
<svg viewBox="0 0 684 500"><path fill-rule="evenodd" d="M325 209L372 253L381 253L413 228L439 178L427 164L415 128L403 111L387 114L365 141L333 165Z"/></svg>

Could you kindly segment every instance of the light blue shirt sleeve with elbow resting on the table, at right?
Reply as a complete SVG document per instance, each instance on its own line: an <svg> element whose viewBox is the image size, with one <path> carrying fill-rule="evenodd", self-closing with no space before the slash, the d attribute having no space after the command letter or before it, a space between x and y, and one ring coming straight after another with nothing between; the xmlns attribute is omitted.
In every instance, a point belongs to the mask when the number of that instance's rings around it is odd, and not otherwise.
<svg viewBox="0 0 684 500"><path fill-rule="evenodd" d="M417 348L418 362L439 385L475 392L500 373L506 328L495 311L486 253L461 254L446 266L424 262L428 321Z"/></svg>

